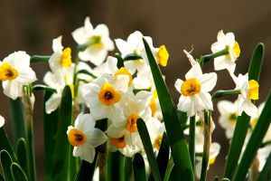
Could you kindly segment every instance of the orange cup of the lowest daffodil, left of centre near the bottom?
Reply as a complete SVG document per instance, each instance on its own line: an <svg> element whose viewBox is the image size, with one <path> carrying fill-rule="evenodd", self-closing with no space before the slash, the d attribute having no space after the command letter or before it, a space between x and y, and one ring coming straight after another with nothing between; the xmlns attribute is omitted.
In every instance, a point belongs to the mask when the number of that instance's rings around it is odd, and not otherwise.
<svg viewBox="0 0 271 181"><path fill-rule="evenodd" d="M87 141L85 134L78 129L70 129L68 139L73 147L79 147Z"/></svg>

